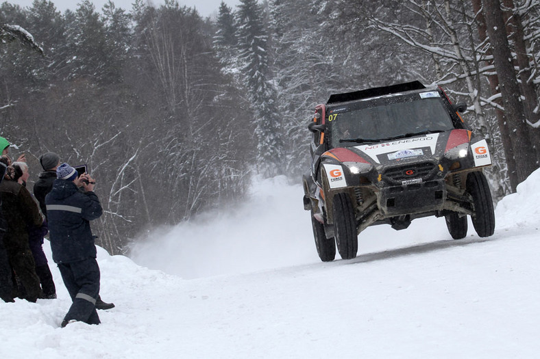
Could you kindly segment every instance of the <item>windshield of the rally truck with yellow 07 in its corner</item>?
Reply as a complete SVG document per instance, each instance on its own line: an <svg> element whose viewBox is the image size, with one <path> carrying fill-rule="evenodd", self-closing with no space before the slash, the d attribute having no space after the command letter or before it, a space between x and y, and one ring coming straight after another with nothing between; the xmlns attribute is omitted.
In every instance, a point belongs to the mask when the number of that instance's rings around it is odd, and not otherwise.
<svg viewBox="0 0 540 359"><path fill-rule="evenodd" d="M341 108L331 113L328 120L332 124L333 147L454 129L441 98L407 98L403 102L382 103L350 111Z"/></svg>

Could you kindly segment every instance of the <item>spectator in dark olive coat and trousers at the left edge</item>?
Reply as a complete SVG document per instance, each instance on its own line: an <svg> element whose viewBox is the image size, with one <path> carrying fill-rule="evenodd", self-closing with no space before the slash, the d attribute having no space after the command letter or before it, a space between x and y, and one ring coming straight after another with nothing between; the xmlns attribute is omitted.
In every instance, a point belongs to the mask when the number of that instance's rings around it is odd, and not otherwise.
<svg viewBox="0 0 540 359"><path fill-rule="evenodd" d="M2 162L5 161L7 159L3 158ZM0 183L1 209L8 227L3 244L8 253L9 263L25 289L25 299L36 302L38 297L42 297L42 291L36 274L34 256L29 248L27 228L41 226L42 217L32 195L25 187L14 181L16 171L14 168L11 170Z"/></svg>

